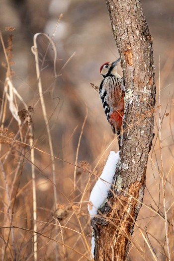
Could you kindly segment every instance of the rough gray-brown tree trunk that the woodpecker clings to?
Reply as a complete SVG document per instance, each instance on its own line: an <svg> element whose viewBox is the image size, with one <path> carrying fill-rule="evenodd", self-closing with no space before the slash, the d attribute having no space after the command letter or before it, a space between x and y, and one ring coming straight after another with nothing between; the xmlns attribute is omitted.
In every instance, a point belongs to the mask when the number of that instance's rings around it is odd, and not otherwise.
<svg viewBox="0 0 174 261"><path fill-rule="evenodd" d="M127 260L134 220L141 207L136 199L143 200L153 140L156 88L152 37L140 1L106 0L106 3L126 88L124 134L113 191L99 209L101 218L93 218L91 225L95 237L94 260L120 261Z"/></svg>

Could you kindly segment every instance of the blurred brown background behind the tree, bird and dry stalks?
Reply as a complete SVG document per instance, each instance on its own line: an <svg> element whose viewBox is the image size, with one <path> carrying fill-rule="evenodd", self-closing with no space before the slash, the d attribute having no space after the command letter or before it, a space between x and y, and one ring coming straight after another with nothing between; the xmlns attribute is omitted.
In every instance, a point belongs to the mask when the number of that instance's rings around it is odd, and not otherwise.
<svg viewBox="0 0 174 261"><path fill-rule="evenodd" d="M167 2L164 0L142 0L141 2L154 42L157 124L154 131L154 146L151 151L152 161L149 160L147 168L147 189L143 201L145 205L140 210L137 225L143 231L150 248L155 252L158 259L166 260L164 248L165 222L158 215L160 213L163 216L164 212L160 178L158 110L161 106L164 116L162 128L163 164L165 176L168 177L166 201L169 209L168 220L171 224L171 250L174 250L172 241L174 234L174 171L172 169L174 163L174 4L172 0ZM0 5L0 30L6 47L10 32L5 31L4 28L7 26L15 27L15 31L12 32L12 60L15 62L12 66L14 70L13 85L27 106L34 108L32 114L34 146L43 151L35 151L37 224L38 231L41 234L38 238L38 260L39 258L40 260L55 260L55 241L52 239L57 239L72 248L66 246L63 248L62 244L58 244L58 260L86 260L85 257L74 250L79 251L89 259L87 244L90 247L91 227L87 212L87 201L96 179L90 171L94 170L94 174L100 175L109 151L118 149L117 140L113 141L114 135L105 119L98 93L90 86L91 82L96 86L100 84L100 65L118 58L105 1L1 0ZM56 218L58 212L54 212L51 158L47 154L50 153L50 150L39 102L35 60L31 46L35 33L45 32L50 37L53 35L61 13L63 13L63 18L53 37L57 49L56 69L60 76L57 79L54 77L54 52L51 46L49 46L41 70L53 149L55 156L59 158L55 160L57 204L59 209L66 210L64 212L66 215L59 221L62 226L68 227L62 227L62 229L59 227L59 234L56 237L53 216ZM48 40L41 36L38 44L39 57L42 61L48 47ZM158 91L159 57L161 105L159 105ZM68 61L69 59L70 61ZM67 65L64 66L67 61ZM5 57L0 46L0 63L2 62L5 62ZM118 70L122 74L121 67ZM5 73L6 68L1 66L0 99L2 99ZM18 103L18 106L19 110L24 109L21 103ZM86 115L87 122L83 128ZM18 131L18 125L12 118L8 106L4 127L8 129L8 133L13 132L14 135ZM74 164L81 134L77 165L82 168L77 169L77 187L74 191ZM111 145L108 148L109 144ZM9 148L9 144L2 144L2 162ZM15 200L12 225L18 227L14 230L16 260L33 260L32 182L29 151L29 147L26 147L24 162L22 168L18 170L18 179L14 184L13 198ZM19 145L13 146L7 161L4 162L9 187L14 178L17 162L21 156L20 153L21 147ZM1 174L0 197L0 226L7 226L9 220L6 223L4 221L4 212L7 211L7 198L5 182ZM151 206L155 211L148 209L146 205ZM153 260L151 251L145 244L137 225L130 247L130 260ZM1 250L4 250L3 240L7 241L8 232L5 232L5 230L0 232ZM4 257L4 260L10 260L10 258L13 260L10 238Z"/></svg>

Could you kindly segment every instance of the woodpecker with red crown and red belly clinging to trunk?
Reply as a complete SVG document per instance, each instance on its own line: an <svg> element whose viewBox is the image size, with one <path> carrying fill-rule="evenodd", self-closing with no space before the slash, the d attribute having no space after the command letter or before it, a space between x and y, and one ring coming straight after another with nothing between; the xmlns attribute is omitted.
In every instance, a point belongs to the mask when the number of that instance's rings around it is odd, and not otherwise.
<svg viewBox="0 0 174 261"><path fill-rule="evenodd" d="M110 123L113 133L118 135L119 149L121 147L121 132L124 115L124 91L121 88L121 76L117 73L117 64L107 62L101 65L100 73L103 80L99 87L99 98L103 104L103 109Z"/></svg>

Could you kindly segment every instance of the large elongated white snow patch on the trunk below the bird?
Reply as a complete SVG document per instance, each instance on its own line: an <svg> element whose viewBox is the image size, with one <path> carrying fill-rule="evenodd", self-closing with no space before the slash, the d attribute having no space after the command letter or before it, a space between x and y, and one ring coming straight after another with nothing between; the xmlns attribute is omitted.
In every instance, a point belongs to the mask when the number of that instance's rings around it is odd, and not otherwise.
<svg viewBox="0 0 174 261"><path fill-rule="evenodd" d="M97 214L97 209L101 206L107 197L118 160L119 151L117 153L111 151L104 166L103 172L90 193L89 204L87 208L91 218Z"/></svg>

